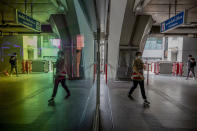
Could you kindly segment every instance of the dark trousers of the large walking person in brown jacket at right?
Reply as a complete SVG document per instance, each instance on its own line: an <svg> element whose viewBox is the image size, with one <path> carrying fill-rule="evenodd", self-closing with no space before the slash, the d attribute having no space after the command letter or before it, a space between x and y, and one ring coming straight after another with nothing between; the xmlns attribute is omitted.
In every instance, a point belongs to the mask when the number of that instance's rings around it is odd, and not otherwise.
<svg viewBox="0 0 197 131"><path fill-rule="evenodd" d="M140 85L140 90L141 90L143 99L146 99L146 94L144 90L144 80L142 81L133 80L133 87L131 87L129 94L131 95L133 93L133 91L137 88L138 84Z"/></svg>

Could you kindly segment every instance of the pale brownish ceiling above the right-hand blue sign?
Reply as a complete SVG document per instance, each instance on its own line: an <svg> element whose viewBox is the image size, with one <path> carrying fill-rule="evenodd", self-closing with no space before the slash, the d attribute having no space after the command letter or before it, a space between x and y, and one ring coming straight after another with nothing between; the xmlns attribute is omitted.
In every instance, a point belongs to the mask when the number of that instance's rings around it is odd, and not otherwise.
<svg viewBox="0 0 197 131"><path fill-rule="evenodd" d="M151 15L154 25L159 25L174 16L175 10L177 14L185 9L190 9L187 22L197 24L197 0L151 0L143 9L143 13Z"/></svg>

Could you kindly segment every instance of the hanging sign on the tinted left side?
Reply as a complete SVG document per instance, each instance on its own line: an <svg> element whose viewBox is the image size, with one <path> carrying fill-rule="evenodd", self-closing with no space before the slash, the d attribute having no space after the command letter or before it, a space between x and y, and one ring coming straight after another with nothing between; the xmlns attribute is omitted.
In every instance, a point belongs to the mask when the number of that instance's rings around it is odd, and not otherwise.
<svg viewBox="0 0 197 131"><path fill-rule="evenodd" d="M17 11L17 23L26 26L27 28L41 32L41 23L26 14Z"/></svg>

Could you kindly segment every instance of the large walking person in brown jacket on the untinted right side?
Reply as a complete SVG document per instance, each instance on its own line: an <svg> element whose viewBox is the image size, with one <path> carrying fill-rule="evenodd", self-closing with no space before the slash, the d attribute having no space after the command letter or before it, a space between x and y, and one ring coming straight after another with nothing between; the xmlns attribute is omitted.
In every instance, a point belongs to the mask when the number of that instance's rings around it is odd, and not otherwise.
<svg viewBox="0 0 197 131"><path fill-rule="evenodd" d="M128 97L132 98L133 91L137 88L138 84L140 85L140 90L142 97L144 99L144 104L150 104L150 102L147 100L145 89L144 89L144 75L143 70L145 68L144 63L142 61L142 53L137 52L136 58L133 62L133 73L131 79L133 80L133 87L131 87Z"/></svg>

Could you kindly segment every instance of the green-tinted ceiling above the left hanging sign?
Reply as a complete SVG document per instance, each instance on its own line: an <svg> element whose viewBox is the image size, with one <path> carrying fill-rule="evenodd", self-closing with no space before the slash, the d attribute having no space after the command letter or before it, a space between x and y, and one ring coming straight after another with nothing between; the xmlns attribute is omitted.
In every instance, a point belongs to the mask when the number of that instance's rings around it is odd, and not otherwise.
<svg viewBox="0 0 197 131"><path fill-rule="evenodd" d="M1 0L0 6L0 11L4 12L5 16L12 9L25 12L25 0ZM29 16L32 14L33 18L40 21L42 24L48 24L47 21L50 14L55 14L59 11L57 7L55 7L55 5L51 2L51 0L27 0L26 12Z"/></svg>

